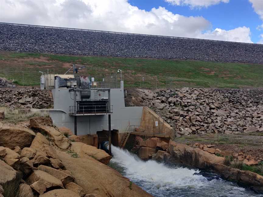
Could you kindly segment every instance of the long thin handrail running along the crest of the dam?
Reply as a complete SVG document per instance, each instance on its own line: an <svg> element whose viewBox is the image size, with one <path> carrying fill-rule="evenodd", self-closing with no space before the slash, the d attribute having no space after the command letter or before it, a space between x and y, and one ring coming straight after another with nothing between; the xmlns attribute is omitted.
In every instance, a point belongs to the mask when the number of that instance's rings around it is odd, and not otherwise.
<svg viewBox="0 0 263 197"><path fill-rule="evenodd" d="M178 39L189 39L189 40L203 40L203 41L213 41L213 42L226 42L226 43L241 43L241 44L251 44L251 45L262 45L262 44L258 44L258 43L243 43L243 42L224 41L224 40L208 40L208 39L186 38L186 37L177 37L177 36L160 36L160 35L153 35L153 34L114 32L114 31L94 30L94 29L79 29L79 28L70 28L70 27L29 25L29 24L10 23L10 22L0 22L0 24L20 25L20 26L32 26L32 27L44 27L44 28L54 28L54 29L81 30L81 31L92 31L92 32L105 32L105 33L118 33L118 34L128 34L128 35L138 35L138 36L155 36L155 37L167 37L167 38L178 38Z"/></svg>

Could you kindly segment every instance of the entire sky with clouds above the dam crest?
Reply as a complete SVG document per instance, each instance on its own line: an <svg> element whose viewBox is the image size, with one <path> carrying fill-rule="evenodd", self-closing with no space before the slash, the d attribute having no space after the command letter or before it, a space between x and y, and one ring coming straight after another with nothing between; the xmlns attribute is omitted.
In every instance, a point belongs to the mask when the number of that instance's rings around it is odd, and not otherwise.
<svg viewBox="0 0 263 197"><path fill-rule="evenodd" d="M263 44L263 0L0 0L0 22Z"/></svg>

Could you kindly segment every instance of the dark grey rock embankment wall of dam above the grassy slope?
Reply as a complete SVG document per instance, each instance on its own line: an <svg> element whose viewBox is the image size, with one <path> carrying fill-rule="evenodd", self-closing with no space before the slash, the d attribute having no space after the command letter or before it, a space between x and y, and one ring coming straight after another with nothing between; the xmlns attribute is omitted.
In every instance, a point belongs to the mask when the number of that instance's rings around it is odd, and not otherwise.
<svg viewBox="0 0 263 197"><path fill-rule="evenodd" d="M263 44L3 23L0 50L263 63Z"/></svg>

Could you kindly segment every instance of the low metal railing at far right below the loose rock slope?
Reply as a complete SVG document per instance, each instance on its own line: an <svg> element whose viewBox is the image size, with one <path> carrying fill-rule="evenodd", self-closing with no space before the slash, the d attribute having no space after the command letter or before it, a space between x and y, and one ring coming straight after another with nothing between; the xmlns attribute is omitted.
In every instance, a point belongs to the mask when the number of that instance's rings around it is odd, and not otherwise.
<svg viewBox="0 0 263 197"><path fill-rule="evenodd" d="M189 136L184 136L186 139L197 140L197 141L207 141L214 143L246 143L246 144L255 144L263 145L263 133L224 133L224 132L215 132L213 130L208 131L210 133L203 134L191 134ZM176 132L177 133L177 132ZM178 132L181 133L182 132Z"/></svg>

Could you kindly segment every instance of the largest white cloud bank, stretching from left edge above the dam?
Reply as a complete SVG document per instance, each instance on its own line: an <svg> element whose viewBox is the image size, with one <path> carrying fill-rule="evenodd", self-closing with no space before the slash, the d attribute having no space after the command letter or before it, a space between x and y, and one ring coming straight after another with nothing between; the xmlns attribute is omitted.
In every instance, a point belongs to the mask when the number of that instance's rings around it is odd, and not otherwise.
<svg viewBox="0 0 263 197"><path fill-rule="evenodd" d="M251 43L247 27L211 30L202 16L146 11L128 0L0 0L0 21Z"/></svg>

